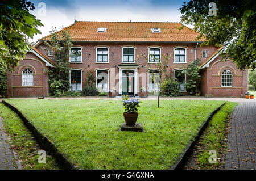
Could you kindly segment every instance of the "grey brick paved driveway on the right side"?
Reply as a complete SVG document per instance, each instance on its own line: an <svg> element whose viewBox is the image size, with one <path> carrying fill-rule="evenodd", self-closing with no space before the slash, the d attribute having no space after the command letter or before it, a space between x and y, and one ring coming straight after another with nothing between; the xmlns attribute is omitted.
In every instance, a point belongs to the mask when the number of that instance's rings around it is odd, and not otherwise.
<svg viewBox="0 0 256 181"><path fill-rule="evenodd" d="M255 170L256 102L240 102L230 120L225 169Z"/></svg>

